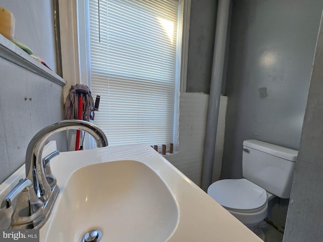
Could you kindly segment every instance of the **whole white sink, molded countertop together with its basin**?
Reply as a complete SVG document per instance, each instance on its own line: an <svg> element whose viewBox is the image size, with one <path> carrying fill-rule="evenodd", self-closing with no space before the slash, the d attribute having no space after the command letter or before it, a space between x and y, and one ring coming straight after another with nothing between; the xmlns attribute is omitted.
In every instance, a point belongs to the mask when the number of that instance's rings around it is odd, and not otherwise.
<svg viewBox="0 0 323 242"><path fill-rule="evenodd" d="M92 229L101 242L263 242L149 145L62 152L50 163L60 193L40 242L81 242ZM24 175L0 185L0 198Z"/></svg>

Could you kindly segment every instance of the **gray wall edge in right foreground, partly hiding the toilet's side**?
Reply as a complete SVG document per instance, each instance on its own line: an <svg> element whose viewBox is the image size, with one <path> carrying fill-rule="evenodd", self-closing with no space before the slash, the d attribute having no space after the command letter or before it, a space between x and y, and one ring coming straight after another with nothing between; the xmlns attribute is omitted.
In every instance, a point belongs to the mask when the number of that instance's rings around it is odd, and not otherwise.
<svg viewBox="0 0 323 242"><path fill-rule="evenodd" d="M317 39L284 242L323 237L323 23Z"/></svg>

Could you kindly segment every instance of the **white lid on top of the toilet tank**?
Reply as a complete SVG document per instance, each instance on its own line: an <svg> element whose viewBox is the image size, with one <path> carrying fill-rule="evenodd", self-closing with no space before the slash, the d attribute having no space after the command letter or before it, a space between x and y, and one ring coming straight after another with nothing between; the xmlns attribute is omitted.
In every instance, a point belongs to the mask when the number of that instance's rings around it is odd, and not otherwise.
<svg viewBox="0 0 323 242"><path fill-rule="evenodd" d="M251 149L255 149L270 155L280 157L282 159L296 161L298 151L288 149L282 146L273 145L259 140L245 140L243 146L246 146Z"/></svg>

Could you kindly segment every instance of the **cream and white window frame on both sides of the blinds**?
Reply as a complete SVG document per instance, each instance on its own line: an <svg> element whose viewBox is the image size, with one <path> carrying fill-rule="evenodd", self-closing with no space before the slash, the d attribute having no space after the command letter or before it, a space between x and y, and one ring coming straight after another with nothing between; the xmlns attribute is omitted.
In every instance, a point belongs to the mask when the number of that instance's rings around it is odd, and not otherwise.
<svg viewBox="0 0 323 242"><path fill-rule="evenodd" d="M61 31L61 51L63 77L67 84L64 88L64 99L68 95L71 85L76 83L87 85L91 88L90 66L89 66L89 28L86 23L89 18L86 0L59 0L60 11L60 31ZM174 115L174 150L178 150L179 137L179 96L180 92L186 92L187 59L188 59L188 39L190 25L191 0L179 0L182 11L180 21L182 24L181 46L178 56L180 56L180 85L176 90L177 110ZM63 24L64 23L64 24ZM68 34L67 34L68 33ZM81 47L82 46L82 47ZM84 46L84 47L83 47ZM72 142L73 143L73 142ZM84 149L93 148L92 137L85 137Z"/></svg>

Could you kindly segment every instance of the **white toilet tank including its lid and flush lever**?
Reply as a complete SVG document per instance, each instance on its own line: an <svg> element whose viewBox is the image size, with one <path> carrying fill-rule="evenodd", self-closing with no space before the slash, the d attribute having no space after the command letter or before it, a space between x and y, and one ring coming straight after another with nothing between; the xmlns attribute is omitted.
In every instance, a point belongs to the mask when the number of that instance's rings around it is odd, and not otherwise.
<svg viewBox="0 0 323 242"><path fill-rule="evenodd" d="M243 177L280 198L289 198L298 151L259 140L245 140Z"/></svg>

